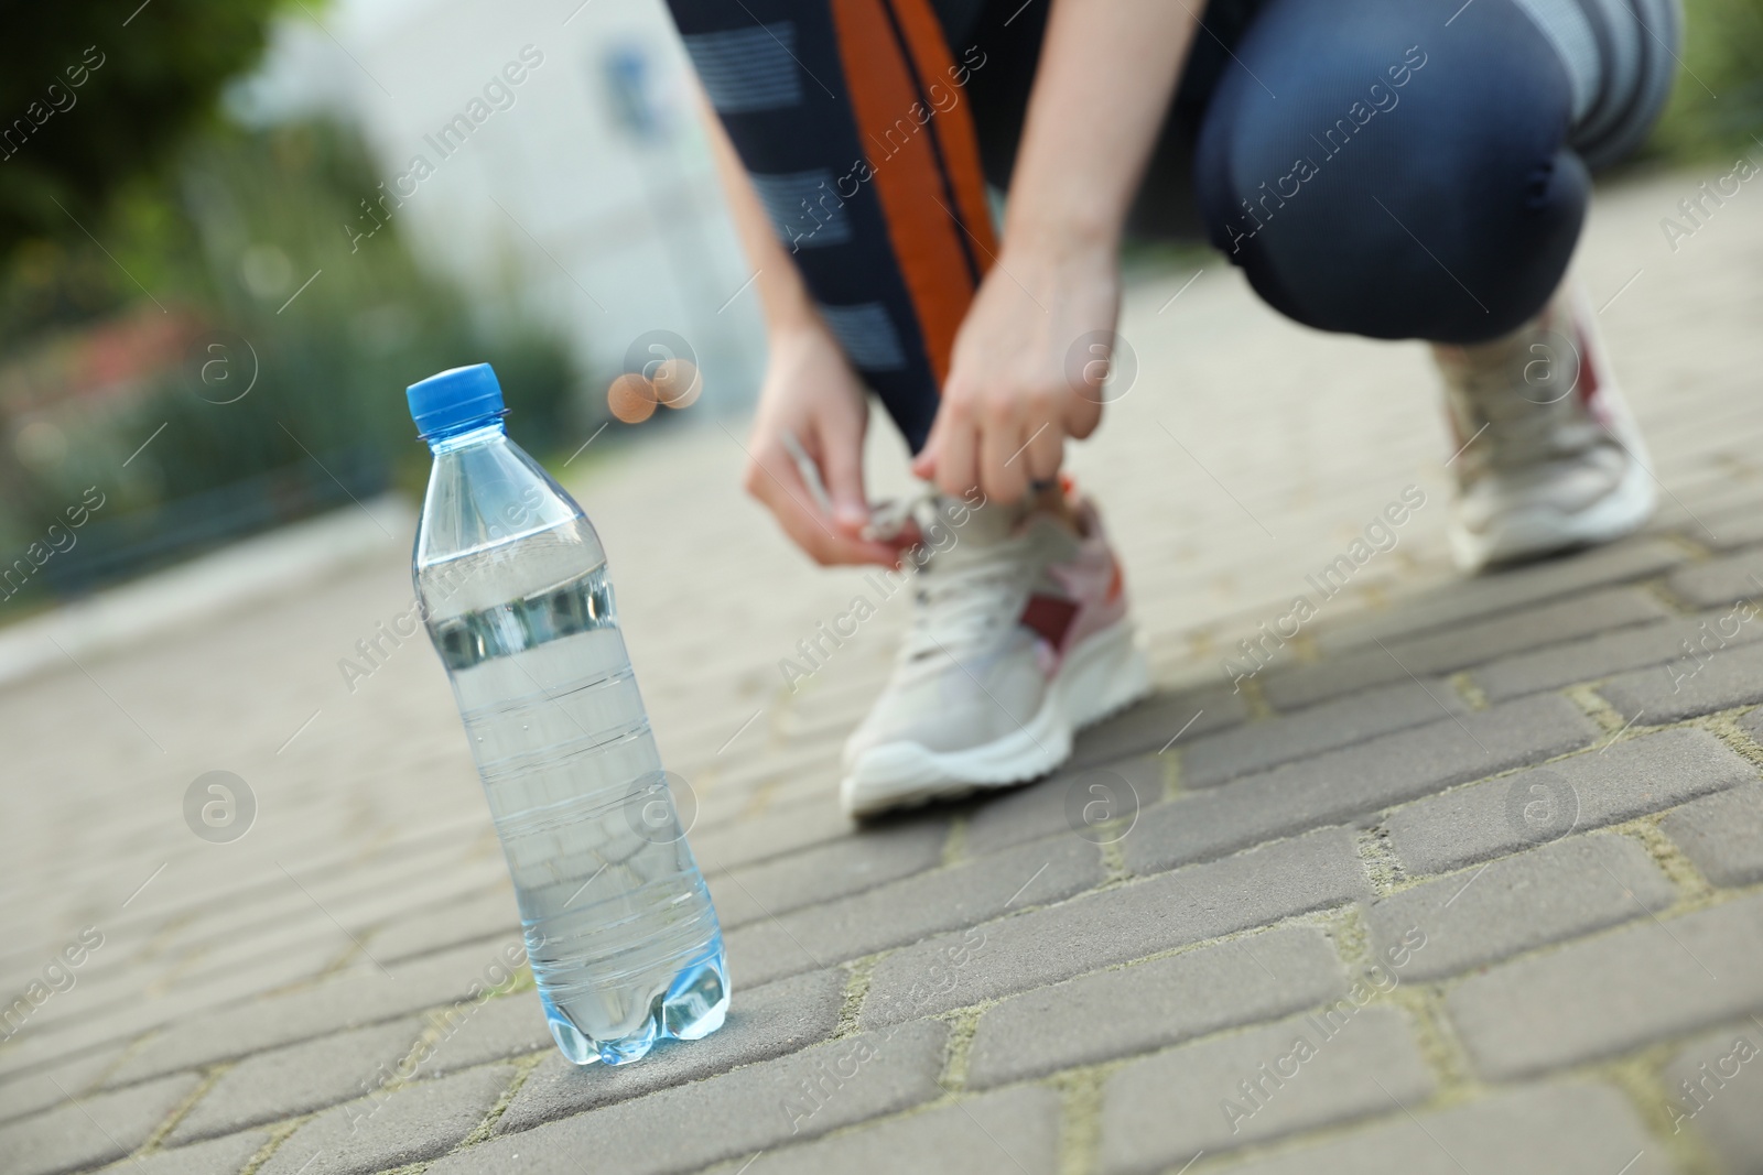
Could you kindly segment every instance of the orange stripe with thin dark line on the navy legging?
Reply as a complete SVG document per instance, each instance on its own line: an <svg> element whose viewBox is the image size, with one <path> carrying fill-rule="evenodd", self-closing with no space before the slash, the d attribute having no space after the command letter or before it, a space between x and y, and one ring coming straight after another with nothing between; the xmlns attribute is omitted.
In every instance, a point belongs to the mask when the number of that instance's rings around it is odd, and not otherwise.
<svg viewBox="0 0 1763 1175"><path fill-rule="evenodd" d="M911 53L910 62L901 55L894 21L889 19L890 4ZM832 25L857 116L857 137L869 153L869 181L876 185L889 241L919 315L931 372L941 384L948 375L956 329L973 301L968 255L984 273L998 252L986 206L978 136L964 95L954 83L954 58L929 0L832 0ZM922 97L913 85L913 69L924 86ZM938 164L938 146L948 174ZM966 233L952 211L959 211Z"/></svg>

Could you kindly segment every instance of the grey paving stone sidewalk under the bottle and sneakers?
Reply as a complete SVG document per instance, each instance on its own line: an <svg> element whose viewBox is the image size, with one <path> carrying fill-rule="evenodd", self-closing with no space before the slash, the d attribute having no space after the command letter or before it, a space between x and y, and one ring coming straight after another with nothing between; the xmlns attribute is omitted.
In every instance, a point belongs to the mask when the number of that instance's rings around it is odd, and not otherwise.
<svg viewBox="0 0 1763 1175"><path fill-rule="evenodd" d="M735 983L636 1066L545 1034L441 668L384 636L405 534L5 689L0 1170L1763 1170L1763 218L1671 252L1703 178L1603 190L1578 262L1655 525L1500 576L1444 557L1419 347L1303 331L1218 262L1141 280L1137 384L1074 460L1160 691L991 800L844 821L906 606L792 692L860 574L733 491L739 432L601 458L573 488ZM1266 641L1410 486L1395 548ZM1232 689L1241 639L1271 664ZM249 794L199 839L212 770Z"/></svg>

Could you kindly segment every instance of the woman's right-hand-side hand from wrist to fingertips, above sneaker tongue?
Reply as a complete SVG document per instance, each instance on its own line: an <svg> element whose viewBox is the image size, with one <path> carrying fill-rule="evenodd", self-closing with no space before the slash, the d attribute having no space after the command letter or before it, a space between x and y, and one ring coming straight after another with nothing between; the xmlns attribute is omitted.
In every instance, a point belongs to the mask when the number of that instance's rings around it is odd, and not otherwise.
<svg viewBox="0 0 1763 1175"><path fill-rule="evenodd" d="M1112 241L1031 243L980 284L911 469L945 493L971 486L1015 502L1060 472L1065 439L1102 419L1102 379L1120 312Z"/></svg>

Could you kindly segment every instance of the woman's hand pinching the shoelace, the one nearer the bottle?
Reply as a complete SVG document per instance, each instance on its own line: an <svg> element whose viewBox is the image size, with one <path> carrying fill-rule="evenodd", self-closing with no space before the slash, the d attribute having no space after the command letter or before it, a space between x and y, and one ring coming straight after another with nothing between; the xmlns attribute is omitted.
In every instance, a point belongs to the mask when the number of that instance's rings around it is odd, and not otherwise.
<svg viewBox="0 0 1763 1175"><path fill-rule="evenodd" d="M869 523L864 386L818 319L774 329L769 342L758 419L748 442L748 493L777 516L785 534L815 562L892 567L899 551L862 537ZM802 479L786 437L820 470L825 504Z"/></svg>

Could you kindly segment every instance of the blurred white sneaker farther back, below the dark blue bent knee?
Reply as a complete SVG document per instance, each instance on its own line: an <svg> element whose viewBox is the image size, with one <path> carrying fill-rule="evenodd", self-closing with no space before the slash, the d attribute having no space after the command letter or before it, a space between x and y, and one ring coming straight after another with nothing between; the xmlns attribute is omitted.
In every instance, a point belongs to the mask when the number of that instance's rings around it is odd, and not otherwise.
<svg viewBox="0 0 1763 1175"><path fill-rule="evenodd" d="M1610 543L1638 530L1657 493L1647 446L1610 377L1583 294L1474 347L1435 345L1446 381L1463 571Z"/></svg>

